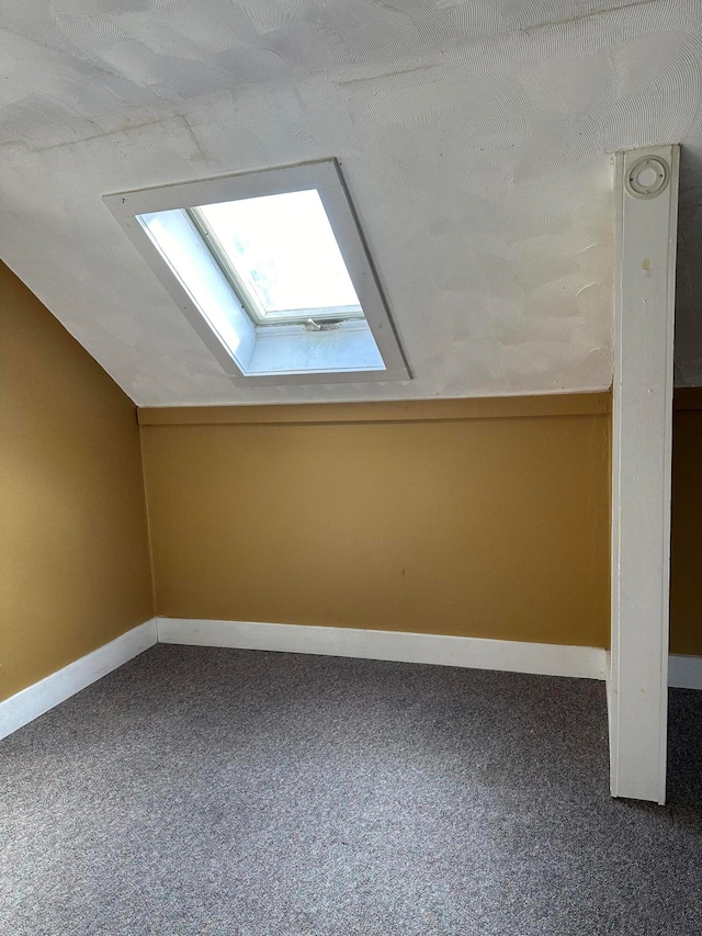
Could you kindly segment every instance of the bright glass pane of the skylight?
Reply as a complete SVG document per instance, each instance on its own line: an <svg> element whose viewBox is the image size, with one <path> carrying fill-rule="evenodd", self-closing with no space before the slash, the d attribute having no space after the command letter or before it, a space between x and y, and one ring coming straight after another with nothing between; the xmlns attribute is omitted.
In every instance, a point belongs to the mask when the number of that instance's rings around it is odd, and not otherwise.
<svg viewBox="0 0 702 936"><path fill-rule="evenodd" d="M197 210L262 319L362 315L316 189Z"/></svg>

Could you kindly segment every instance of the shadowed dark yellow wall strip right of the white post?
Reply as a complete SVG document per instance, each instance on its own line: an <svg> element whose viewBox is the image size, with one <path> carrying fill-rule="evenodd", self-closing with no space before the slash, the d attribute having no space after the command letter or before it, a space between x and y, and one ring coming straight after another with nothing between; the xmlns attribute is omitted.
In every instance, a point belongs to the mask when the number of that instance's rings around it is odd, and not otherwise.
<svg viewBox="0 0 702 936"><path fill-rule="evenodd" d="M702 656L702 390L676 394L670 650ZM682 408L682 407L694 408Z"/></svg>

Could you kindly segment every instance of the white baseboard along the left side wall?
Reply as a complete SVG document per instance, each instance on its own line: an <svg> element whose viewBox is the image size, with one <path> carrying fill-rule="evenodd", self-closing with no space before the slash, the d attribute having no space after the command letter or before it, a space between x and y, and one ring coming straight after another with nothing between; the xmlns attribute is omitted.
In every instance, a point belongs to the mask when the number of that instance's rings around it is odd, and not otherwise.
<svg viewBox="0 0 702 936"><path fill-rule="evenodd" d="M43 715L156 643L156 618L0 702L0 738Z"/></svg>

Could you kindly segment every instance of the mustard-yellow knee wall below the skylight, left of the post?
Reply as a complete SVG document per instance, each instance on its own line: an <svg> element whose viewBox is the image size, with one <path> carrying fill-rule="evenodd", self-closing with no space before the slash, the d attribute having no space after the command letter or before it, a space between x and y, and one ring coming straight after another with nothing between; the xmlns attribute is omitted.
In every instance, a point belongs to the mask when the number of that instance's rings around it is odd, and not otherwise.
<svg viewBox="0 0 702 936"><path fill-rule="evenodd" d="M140 410L158 612L603 646L608 404Z"/></svg>

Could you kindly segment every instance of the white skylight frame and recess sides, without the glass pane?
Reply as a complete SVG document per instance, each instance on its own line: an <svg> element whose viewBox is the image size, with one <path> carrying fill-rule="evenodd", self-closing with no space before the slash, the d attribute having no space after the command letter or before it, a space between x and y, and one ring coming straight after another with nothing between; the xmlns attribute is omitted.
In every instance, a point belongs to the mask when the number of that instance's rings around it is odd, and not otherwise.
<svg viewBox="0 0 702 936"><path fill-rule="evenodd" d="M257 327L183 210L312 189L319 194L365 317L354 319L351 314L332 329L321 331L286 324ZM104 202L235 383L250 386L410 380L336 160L122 192L105 195ZM138 219L160 212L180 212L188 217L184 222L181 215L173 215L182 236L191 238L208 292L222 303L229 303L226 323L205 317L203 303L179 279ZM188 224L191 230L186 229ZM231 296L236 308L230 304ZM324 316L317 320L324 324Z"/></svg>

